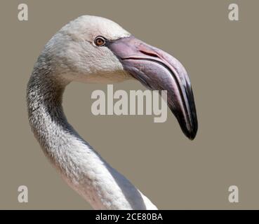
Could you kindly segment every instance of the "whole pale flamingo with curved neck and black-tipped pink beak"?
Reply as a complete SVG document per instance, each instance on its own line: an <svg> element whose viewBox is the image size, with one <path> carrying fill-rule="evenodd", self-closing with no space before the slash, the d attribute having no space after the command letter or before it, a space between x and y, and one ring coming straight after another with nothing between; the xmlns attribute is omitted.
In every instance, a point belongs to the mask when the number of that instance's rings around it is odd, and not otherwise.
<svg viewBox="0 0 259 224"><path fill-rule="evenodd" d="M62 178L93 209L157 207L67 122L62 94L72 81L116 83L131 78L150 90L167 90L168 107L182 132L194 139L197 114L185 68L105 18L83 15L62 27L46 43L27 84L34 137Z"/></svg>

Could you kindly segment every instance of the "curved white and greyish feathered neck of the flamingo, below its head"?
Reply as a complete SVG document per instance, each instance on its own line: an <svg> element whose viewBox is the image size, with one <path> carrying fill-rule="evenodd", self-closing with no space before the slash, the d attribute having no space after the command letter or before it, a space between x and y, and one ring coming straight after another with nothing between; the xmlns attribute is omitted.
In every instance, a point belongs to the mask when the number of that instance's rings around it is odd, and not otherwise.
<svg viewBox="0 0 259 224"><path fill-rule="evenodd" d="M68 84L37 66L27 86L29 124L45 155L94 209L156 209L73 129L62 110Z"/></svg>

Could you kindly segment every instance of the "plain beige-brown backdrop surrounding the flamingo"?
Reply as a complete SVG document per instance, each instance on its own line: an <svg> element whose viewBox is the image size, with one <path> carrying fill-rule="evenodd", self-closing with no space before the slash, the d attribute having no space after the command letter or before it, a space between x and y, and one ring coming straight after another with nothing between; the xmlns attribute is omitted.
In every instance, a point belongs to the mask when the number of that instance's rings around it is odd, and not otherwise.
<svg viewBox="0 0 259 224"><path fill-rule="evenodd" d="M17 19L28 3L29 21ZM240 21L227 18L239 3ZM91 92L72 83L67 118L105 160L159 209L258 209L258 1L1 1L0 209L91 209L44 158L27 122L25 89L36 57L58 29L79 15L118 22L166 50L190 73L199 132L189 141L168 111L152 116L93 116ZM116 90L143 89L137 81ZM29 188L19 204L17 189ZM239 187L239 203L228 187Z"/></svg>

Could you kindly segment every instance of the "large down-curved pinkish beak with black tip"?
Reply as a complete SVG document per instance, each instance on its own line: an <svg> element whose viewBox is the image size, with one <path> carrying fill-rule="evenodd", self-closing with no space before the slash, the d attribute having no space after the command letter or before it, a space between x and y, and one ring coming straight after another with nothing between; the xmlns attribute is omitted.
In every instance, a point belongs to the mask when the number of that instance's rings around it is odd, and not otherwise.
<svg viewBox="0 0 259 224"><path fill-rule="evenodd" d="M107 48L142 85L150 90L167 90L167 104L182 132L194 139L198 130L194 96L187 71L178 59L134 36L111 41Z"/></svg>

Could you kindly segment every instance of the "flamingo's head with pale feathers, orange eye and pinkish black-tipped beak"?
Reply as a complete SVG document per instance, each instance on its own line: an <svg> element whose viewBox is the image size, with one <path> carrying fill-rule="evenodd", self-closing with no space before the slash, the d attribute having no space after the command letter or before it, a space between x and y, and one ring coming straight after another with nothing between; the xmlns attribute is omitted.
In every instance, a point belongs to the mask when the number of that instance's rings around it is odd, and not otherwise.
<svg viewBox="0 0 259 224"><path fill-rule="evenodd" d="M150 90L167 90L167 103L182 132L194 139L197 113L190 78L168 53L135 38L117 23L84 15L62 27L44 48L63 80L114 83L134 78Z"/></svg>

